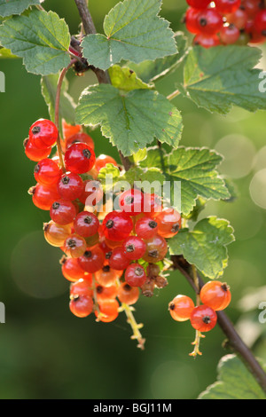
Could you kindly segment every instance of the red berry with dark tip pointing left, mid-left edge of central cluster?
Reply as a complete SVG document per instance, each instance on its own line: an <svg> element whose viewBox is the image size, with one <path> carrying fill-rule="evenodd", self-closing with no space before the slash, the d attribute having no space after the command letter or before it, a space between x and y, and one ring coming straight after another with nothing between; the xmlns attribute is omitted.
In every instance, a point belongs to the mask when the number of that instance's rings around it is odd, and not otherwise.
<svg viewBox="0 0 266 417"><path fill-rule="evenodd" d="M37 184L31 187L28 190L28 193L32 195L32 201L35 207L47 211L51 209L51 205L54 201L60 199L55 185Z"/></svg>

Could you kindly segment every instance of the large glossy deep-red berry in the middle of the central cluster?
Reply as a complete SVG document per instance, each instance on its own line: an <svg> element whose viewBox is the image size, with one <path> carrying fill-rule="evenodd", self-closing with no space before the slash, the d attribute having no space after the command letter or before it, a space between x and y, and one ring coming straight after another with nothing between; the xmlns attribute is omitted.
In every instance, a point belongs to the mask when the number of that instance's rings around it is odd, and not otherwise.
<svg viewBox="0 0 266 417"><path fill-rule="evenodd" d="M112 211L108 213L103 221L103 232L106 239L121 241L126 239L132 232L133 222L123 212Z"/></svg>

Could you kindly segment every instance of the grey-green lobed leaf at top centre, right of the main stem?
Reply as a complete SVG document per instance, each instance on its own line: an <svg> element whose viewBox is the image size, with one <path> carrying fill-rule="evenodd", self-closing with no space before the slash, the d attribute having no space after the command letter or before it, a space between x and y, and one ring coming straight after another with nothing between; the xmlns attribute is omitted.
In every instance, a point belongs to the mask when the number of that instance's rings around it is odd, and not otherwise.
<svg viewBox="0 0 266 417"><path fill-rule="evenodd" d="M124 0L104 21L106 35L87 35L83 55L90 65L107 69L121 59L142 62L176 53L174 33L158 17L161 0Z"/></svg>

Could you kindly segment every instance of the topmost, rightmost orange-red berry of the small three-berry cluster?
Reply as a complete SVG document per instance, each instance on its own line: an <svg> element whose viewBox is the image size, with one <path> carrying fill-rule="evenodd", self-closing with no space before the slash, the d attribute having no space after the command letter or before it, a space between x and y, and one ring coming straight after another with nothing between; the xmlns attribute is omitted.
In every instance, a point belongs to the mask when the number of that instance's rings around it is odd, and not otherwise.
<svg viewBox="0 0 266 417"><path fill-rule="evenodd" d="M215 311L222 311L231 303L230 287L225 282L208 281L200 290L200 300Z"/></svg>

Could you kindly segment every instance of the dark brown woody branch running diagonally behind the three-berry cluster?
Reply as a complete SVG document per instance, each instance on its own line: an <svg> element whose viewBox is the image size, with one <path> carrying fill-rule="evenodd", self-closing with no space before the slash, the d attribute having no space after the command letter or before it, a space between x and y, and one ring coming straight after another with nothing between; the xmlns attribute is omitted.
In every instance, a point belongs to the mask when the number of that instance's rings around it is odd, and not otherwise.
<svg viewBox="0 0 266 417"><path fill-rule="evenodd" d="M199 290L194 284L192 276L192 265L188 264L183 256L172 256L174 269L180 271L188 282L192 285L196 294L199 294ZM200 288L203 287L204 281L201 279L200 274L198 274ZM229 345L245 362L246 367L249 369L251 374L254 375L256 381L260 384L263 391L266 393L266 374L262 369L262 366L254 358L252 351L246 346L242 341L241 337L237 333L235 327L231 323L231 320L226 316L224 311L217 311L218 324L223 330L223 333L228 338Z"/></svg>

